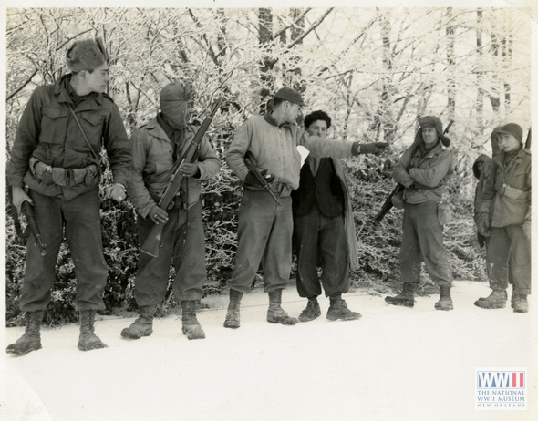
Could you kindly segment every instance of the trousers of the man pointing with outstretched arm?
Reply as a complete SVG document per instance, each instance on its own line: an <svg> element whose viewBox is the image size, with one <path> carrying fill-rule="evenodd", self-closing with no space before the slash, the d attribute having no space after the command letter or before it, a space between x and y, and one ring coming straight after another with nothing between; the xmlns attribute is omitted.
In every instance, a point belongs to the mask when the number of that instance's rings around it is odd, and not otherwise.
<svg viewBox="0 0 538 421"><path fill-rule="evenodd" d="M292 199L277 206L265 190L243 192L237 228L237 252L230 289L250 293L250 285L263 260L264 291L284 289L292 268Z"/></svg>

